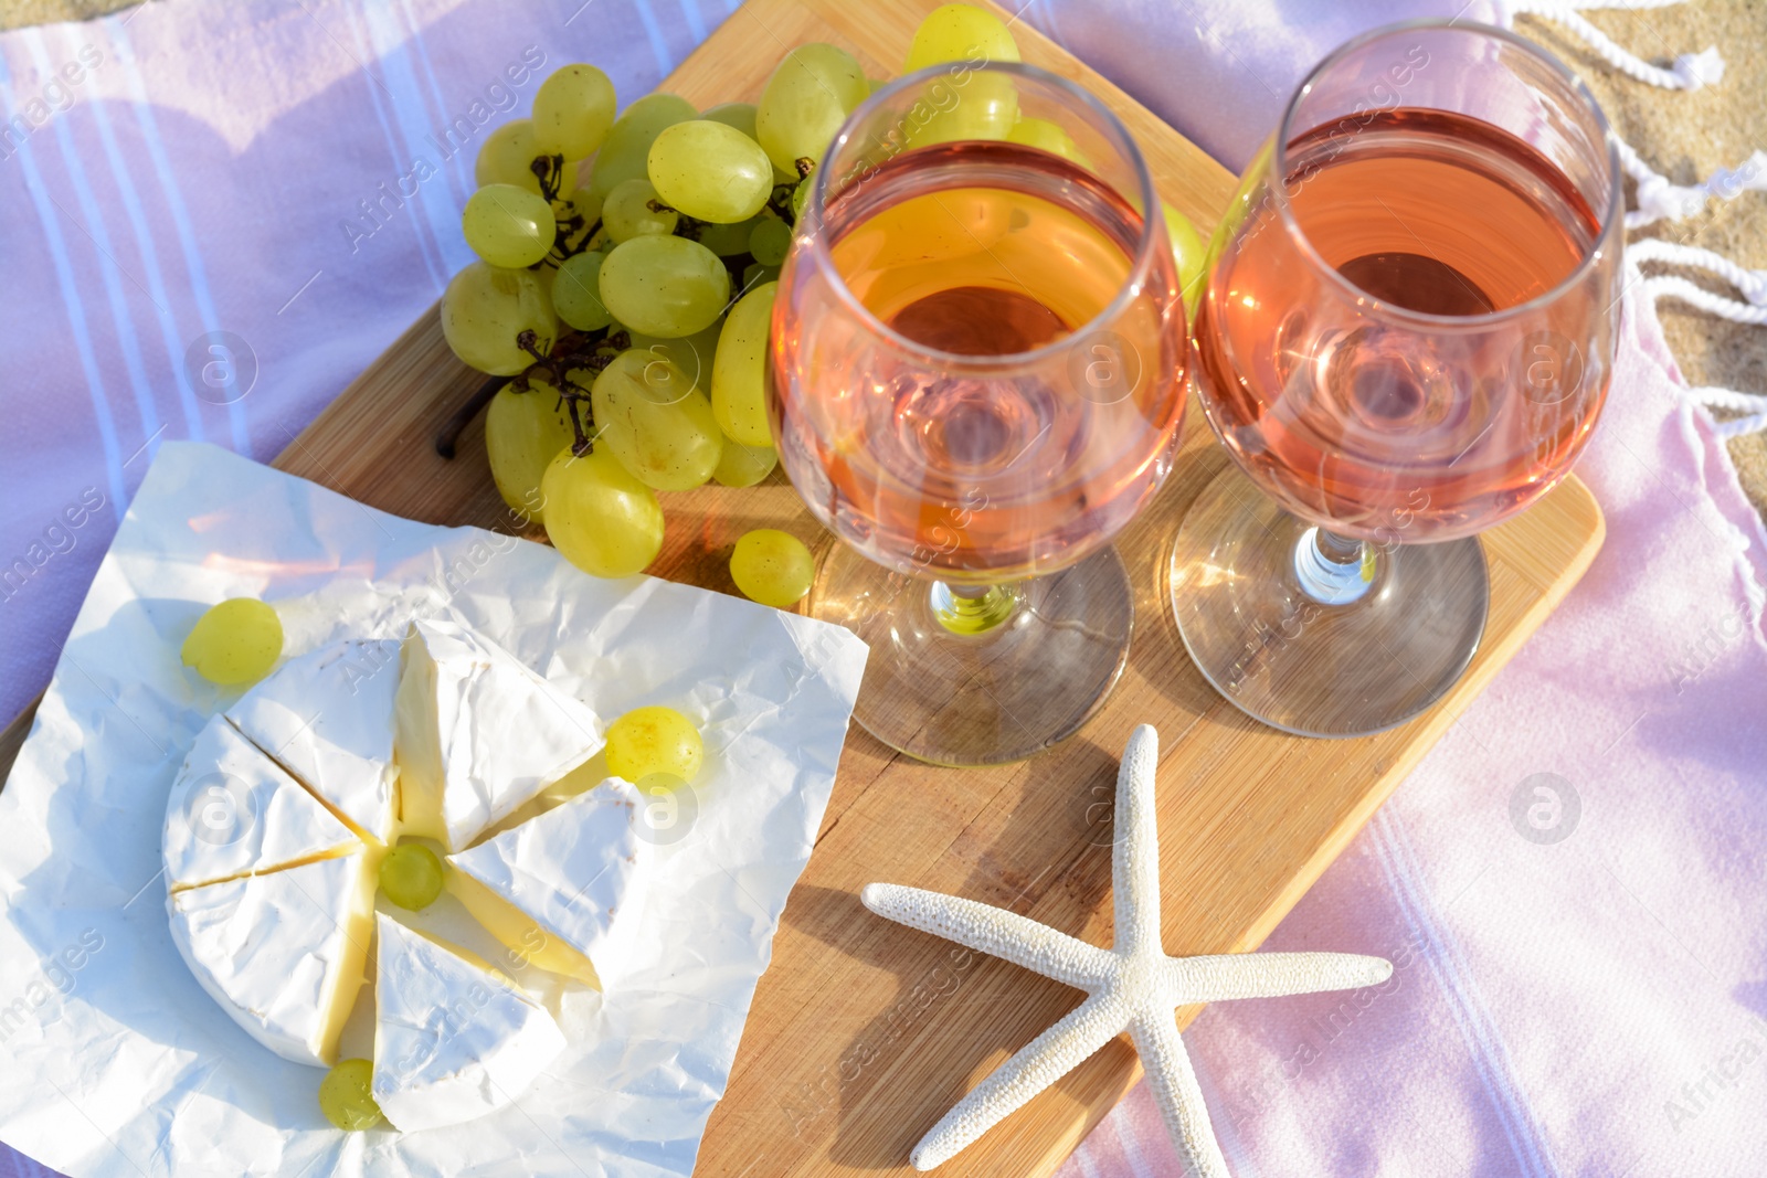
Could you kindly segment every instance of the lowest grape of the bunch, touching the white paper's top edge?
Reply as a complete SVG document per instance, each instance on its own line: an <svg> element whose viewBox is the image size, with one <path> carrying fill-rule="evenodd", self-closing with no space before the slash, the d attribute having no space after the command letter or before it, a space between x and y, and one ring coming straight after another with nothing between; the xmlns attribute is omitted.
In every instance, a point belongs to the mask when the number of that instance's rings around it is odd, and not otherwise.
<svg viewBox="0 0 1767 1178"><path fill-rule="evenodd" d="M604 445L583 456L560 450L541 479L541 498L553 547L590 576L629 578L663 551L656 491Z"/></svg>

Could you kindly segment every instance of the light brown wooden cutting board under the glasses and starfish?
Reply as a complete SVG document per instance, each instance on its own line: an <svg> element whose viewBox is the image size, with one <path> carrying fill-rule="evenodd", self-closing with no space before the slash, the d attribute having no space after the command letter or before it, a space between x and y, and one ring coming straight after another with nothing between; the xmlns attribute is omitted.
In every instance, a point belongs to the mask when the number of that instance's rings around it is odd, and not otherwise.
<svg viewBox="0 0 1767 1178"><path fill-rule="evenodd" d="M853 51L871 76L903 60L937 0L747 0L663 88L705 108L755 101L779 57L806 41ZM1027 62L1080 81L1127 122L1154 177L1207 231L1233 177L1104 78L1023 21ZM277 459L399 516L507 532L482 419L440 459L436 426L481 383L447 351L435 309ZM1191 406L1175 473L1119 542L1138 586L1129 668L1104 712L1066 745L1021 765L931 768L857 728L846 740L816 853L786 906L730 1088L698 1174L910 1173L910 1146L975 1081L1078 1003L1076 991L952 950L868 913L859 888L912 883L1002 904L1110 941L1110 800L1131 728L1156 724L1161 759L1164 943L1173 954L1256 948L1375 807L1569 592L1601 547L1603 519L1571 479L1484 537L1491 615L1484 648L1433 712L1378 736L1302 740L1223 701L1184 653L1161 572L1196 491L1226 463ZM730 546L776 526L827 533L781 477L760 487L666 495L668 542L652 572L735 592ZM0 774L28 715L0 736ZM1194 1010L1179 1014L1187 1023ZM1117 1040L942 1167L944 1174L1053 1171L1140 1074Z"/></svg>

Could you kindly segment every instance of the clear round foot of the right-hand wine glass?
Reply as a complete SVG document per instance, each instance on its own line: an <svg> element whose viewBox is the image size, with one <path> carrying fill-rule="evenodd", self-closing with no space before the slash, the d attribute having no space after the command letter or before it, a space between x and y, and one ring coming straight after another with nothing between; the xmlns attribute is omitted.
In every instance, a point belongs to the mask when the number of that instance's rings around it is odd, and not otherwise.
<svg viewBox="0 0 1767 1178"><path fill-rule="evenodd" d="M1172 609L1203 676L1256 721L1302 736L1364 736L1440 699L1467 671L1490 604L1477 539L1399 544L1357 600L1301 590L1309 528L1228 466L1172 551Z"/></svg>

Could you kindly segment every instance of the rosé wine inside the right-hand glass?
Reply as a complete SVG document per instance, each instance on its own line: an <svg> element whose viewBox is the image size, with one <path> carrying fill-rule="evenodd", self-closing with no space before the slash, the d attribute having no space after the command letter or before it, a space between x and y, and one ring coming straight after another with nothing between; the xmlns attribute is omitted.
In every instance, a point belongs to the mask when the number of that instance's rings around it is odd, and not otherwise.
<svg viewBox="0 0 1767 1178"><path fill-rule="evenodd" d="M1543 298L1599 217L1539 152L1463 115L1346 118L1288 159L1299 235L1278 198L1255 205L1198 316L1223 440L1292 510L1362 539L1470 535L1539 498L1606 396L1589 343L1615 309L1596 284Z"/></svg>

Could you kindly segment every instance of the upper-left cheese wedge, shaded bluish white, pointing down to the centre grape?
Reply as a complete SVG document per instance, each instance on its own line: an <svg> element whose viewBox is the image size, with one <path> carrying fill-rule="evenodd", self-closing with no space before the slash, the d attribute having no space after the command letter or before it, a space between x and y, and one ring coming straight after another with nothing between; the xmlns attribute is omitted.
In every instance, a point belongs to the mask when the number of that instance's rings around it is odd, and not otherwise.
<svg viewBox="0 0 1767 1178"><path fill-rule="evenodd" d="M348 639L290 659L226 717L359 835L391 842L398 691L399 643Z"/></svg>

